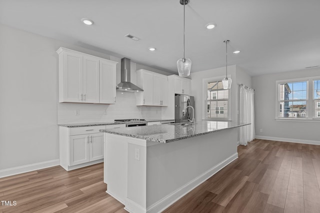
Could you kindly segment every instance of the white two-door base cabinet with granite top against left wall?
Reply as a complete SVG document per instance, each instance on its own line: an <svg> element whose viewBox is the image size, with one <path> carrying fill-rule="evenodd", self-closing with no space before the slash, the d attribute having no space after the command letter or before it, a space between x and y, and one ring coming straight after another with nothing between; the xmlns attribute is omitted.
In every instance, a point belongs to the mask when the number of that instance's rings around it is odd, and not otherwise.
<svg viewBox="0 0 320 213"><path fill-rule="evenodd" d="M103 133L100 129L125 124L88 127L60 127L60 166L66 171L103 162Z"/></svg>

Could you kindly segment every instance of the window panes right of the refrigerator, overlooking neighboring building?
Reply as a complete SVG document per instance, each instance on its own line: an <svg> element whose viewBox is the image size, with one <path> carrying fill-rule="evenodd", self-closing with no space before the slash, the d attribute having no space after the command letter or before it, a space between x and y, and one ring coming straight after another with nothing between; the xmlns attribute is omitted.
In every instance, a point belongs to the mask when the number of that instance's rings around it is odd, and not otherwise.
<svg viewBox="0 0 320 213"><path fill-rule="evenodd" d="M222 81L206 82L205 119L228 120L229 90L224 90Z"/></svg>

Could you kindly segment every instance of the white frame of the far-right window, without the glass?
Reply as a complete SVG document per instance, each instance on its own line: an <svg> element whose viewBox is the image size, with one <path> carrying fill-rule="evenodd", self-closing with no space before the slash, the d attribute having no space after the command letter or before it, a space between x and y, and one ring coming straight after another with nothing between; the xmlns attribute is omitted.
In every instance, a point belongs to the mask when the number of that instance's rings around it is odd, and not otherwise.
<svg viewBox="0 0 320 213"><path fill-rule="evenodd" d="M315 104L314 104L314 80L319 80L320 76L311 76L311 77L304 77L304 78L294 78L294 79L284 79L284 80L276 80L275 81L275 120L276 121L304 121L304 122L320 122L320 117L315 117ZM294 82L301 82L306 81L307 84L307 94L306 94L306 117L305 118L283 118L280 117L280 95L279 95L279 87L280 84L283 83L294 83ZM283 101L282 101L283 102Z"/></svg>

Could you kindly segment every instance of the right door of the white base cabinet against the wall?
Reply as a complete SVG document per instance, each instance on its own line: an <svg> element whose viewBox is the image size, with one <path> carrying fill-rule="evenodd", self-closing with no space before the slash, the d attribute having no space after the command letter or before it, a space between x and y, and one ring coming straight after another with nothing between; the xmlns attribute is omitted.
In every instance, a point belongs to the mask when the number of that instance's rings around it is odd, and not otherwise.
<svg viewBox="0 0 320 213"><path fill-rule="evenodd" d="M90 161L103 159L103 133L89 135Z"/></svg>

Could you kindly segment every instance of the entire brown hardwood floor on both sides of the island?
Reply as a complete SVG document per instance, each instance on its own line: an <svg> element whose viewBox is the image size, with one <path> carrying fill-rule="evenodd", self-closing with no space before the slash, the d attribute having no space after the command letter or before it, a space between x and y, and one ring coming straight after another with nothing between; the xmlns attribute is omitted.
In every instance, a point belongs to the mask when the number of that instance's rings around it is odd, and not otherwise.
<svg viewBox="0 0 320 213"><path fill-rule="evenodd" d="M320 146L254 140L164 213L320 213ZM105 193L103 164L0 179L0 213L125 213Z"/></svg>

